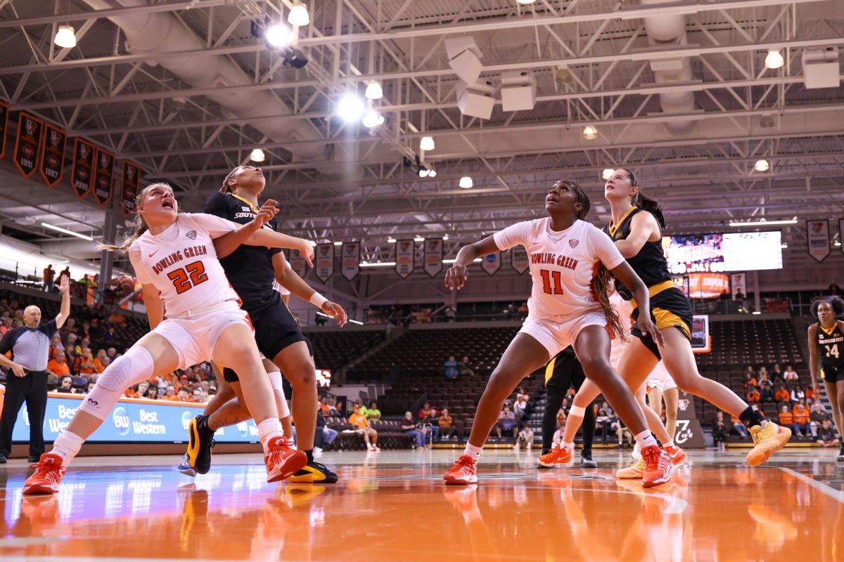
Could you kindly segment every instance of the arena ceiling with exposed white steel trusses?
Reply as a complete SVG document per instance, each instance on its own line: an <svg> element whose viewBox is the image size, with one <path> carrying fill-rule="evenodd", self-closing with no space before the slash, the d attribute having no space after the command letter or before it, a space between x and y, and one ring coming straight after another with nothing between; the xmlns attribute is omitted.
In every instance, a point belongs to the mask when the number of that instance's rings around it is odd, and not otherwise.
<svg viewBox="0 0 844 562"><path fill-rule="evenodd" d="M800 246L803 219L844 216L844 88L807 88L803 64L838 61L841 0L311 0L300 69L252 33L291 5L0 0L0 98L141 164L189 210L262 148L284 229L361 240L366 260L387 259L391 236L447 235L453 248L542 216L564 177L587 187L592 220L606 222L601 173L619 166L639 172L673 233L797 217L782 228ZM62 24L76 47L54 45ZM446 55L457 37L482 55L490 119L457 106ZM766 67L771 49L782 67ZM503 109L510 71L531 75L532 110ZM339 96L362 96L373 80L383 125L340 120ZM436 148L420 151L422 136ZM405 165L415 156L436 178ZM769 170L755 169L760 159ZM45 244L77 244L46 233L47 219L102 235L106 212L93 201L67 182L46 195L8 164L4 224ZM458 187L465 175L471 189Z"/></svg>

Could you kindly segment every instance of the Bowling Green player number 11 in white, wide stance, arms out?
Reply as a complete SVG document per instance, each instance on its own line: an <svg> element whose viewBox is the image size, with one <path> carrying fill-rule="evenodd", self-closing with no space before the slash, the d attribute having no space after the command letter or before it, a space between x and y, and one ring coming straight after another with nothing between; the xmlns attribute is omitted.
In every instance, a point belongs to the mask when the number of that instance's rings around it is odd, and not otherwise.
<svg viewBox="0 0 844 562"><path fill-rule="evenodd" d="M609 237L582 221L589 211L589 198L576 182L558 181L548 192L545 210L549 217L518 222L463 246L454 266L446 271L446 286L460 289L466 283L467 265L475 258L522 244L530 255L533 290L527 319L501 356L481 396L463 455L443 479L446 484L478 481L478 458L506 397L522 378L573 345L586 377L603 388L608 402L636 434L636 441L641 442L648 460L642 484L665 484L671 479L674 467L647 430L641 408L630 390L609 364L608 328L611 326L620 336L625 327L609 305L607 270L638 287L636 302L640 302L640 297L649 299L647 290L631 268L625 266ZM644 314L640 316L643 317ZM640 321L640 326L658 337L651 321L644 324Z"/></svg>

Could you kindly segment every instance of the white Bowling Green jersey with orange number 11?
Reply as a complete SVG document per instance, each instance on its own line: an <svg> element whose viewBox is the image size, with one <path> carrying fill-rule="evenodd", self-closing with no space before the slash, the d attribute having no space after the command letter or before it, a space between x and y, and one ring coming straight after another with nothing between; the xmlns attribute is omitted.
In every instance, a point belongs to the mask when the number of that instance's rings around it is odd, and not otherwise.
<svg viewBox="0 0 844 562"><path fill-rule="evenodd" d="M550 217L517 222L494 239L499 249L527 249L533 278L527 309L538 319L565 322L597 310L592 281L598 261L613 269L625 260L607 234L581 220L560 232L551 230Z"/></svg>

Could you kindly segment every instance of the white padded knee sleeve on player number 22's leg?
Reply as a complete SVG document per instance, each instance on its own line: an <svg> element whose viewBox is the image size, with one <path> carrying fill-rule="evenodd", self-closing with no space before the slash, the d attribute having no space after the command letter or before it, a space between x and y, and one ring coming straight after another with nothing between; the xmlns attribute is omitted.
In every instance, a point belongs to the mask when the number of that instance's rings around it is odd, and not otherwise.
<svg viewBox="0 0 844 562"><path fill-rule="evenodd" d="M152 377L153 356L140 345L135 345L125 355L117 357L97 378L94 388L82 401L79 409L105 420L123 391L133 384Z"/></svg>

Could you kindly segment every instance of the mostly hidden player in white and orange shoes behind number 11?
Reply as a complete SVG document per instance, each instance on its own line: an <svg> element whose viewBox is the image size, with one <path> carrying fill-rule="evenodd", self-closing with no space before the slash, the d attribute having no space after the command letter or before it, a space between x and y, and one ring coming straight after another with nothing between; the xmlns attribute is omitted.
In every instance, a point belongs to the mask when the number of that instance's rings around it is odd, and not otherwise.
<svg viewBox="0 0 844 562"><path fill-rule="evenodd" d="M624 319L625 326L632 325L632 318L630 318L630 316L633 313L633 305L630 304L630 301L625 301L625 299L621 298L617 292L614 292L612 296L609 297L609 301L612 304L612 307L619 313L619 316ZM621 358L622 351L625 349L625 345L627 345L625 340L621 338L614 338L612 342L612 351L610 351L609 356L609 360L613 368L618 366L619 359ZM583 422L583 415L586 408L592 407L592 401L598 398L598 394L600 393L601 389L598 388L598 385L592 381L587 380L581 385L580 390L577 391L574 399L571 400L571 410L569 411L568 417L565 419L563 438L562 442L560 442L560 447L540 458L539 460L541 462L547 465L551 463L565 464L571 461L571 453L574 451L575 447L574 438L577 430ZM685 460L686 453L683 449L674 445L672 437L673 434L669 433L665 426L663 426L663 420L659 417L659 415L647 406L647 402L645 400L646 388L644 384L641 385L641 388L636 388L635 395L636 402L639 403L642 413L647 418L648 427L657 436L657 439L663 443L664 450L668 454L668 457L671 458L672 464L675 467L679 466L679 464L683 463ZM636 458L636 463L633 463L630 467L620 469L616 473L616 476L619 478L642 478L644 475L644 460L638 455L638 447L636 447L634 458Z"/></svg>

